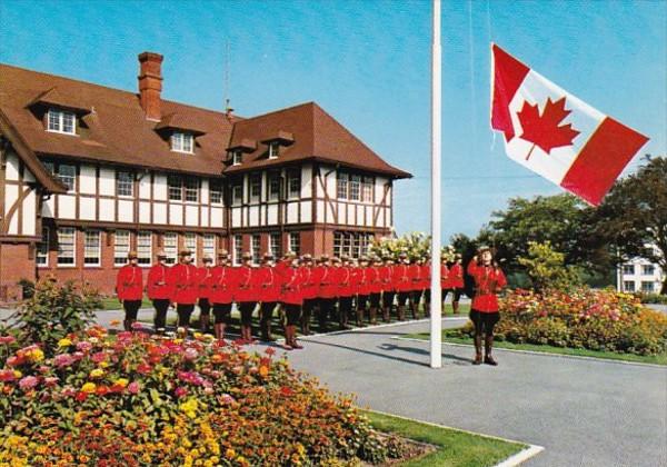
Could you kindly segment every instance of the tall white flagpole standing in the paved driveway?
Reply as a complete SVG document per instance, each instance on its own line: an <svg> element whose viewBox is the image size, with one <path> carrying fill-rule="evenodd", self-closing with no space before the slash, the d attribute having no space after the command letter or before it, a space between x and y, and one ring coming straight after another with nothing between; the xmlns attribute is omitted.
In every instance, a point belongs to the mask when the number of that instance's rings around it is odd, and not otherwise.
<svg viewBox="0 0 667 467"><path fill-rule="evenodd" d="M442 110L442 50L440 46L440 0L434 0L431 46L431 302L430 366L442 367L442 300L440 290L440 158Z"/></svg>

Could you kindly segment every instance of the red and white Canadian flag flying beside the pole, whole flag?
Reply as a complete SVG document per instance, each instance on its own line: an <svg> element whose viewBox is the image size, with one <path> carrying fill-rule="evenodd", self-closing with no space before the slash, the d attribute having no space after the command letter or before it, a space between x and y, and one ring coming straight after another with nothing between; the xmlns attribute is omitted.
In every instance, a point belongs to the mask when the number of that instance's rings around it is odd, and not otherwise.
<svg viewBox="0 0 667 467"><path fill-rule="evenodd" d="M491 44L491 128L510 159L598 206L648 138Z"/></svg>

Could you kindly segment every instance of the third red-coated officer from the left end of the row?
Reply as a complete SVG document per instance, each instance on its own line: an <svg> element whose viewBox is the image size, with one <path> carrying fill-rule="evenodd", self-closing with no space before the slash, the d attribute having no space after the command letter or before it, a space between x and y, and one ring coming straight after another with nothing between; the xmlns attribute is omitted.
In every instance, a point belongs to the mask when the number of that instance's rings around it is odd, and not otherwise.
<svg viewBox="0 0 667 467"><path fill-rule="evenodd" d="M179 252L179 264L172 266L169 270L169 287L171 288L171 301L176 304L178 312L178 327L188 334L190 327L190 317L197 302L199 292L199 272L192 265L192 254L190 250Z"/></svg>

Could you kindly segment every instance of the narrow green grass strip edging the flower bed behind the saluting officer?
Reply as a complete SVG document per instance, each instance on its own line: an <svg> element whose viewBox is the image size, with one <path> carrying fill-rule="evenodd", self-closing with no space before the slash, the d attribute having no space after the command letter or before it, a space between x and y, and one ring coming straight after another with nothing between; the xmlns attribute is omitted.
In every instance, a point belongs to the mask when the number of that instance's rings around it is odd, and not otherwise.
<svg viewBox="0 0 667 467"><path fill-rule="evenodd" d="M444 329L442 330L442 341L451 342L451 344L467 344L472 345L471 338L462 338L457 336L451 336L451 332L456 331L454 329ZM411 334L404 336L406 338L412 339L429 339L428 332L420 334ZM573 355L578 357L596 357L596 358L605 358L609 360L623 360L623 361L636 361L641 364L655 364L655 365L667 365L667 352L655 355L655 356L644 356L644 355L634 355L634 354L618 354L615 351L601 351L601 350L588 350L588 349L574 349L569 347L554 347L548 345L540 344L514 344L508 341L496 341L494 344L495 347L502 349L516 349L516 350L530 350L530 351L539 351L545 354L558 354L558 355Z"/></svg>

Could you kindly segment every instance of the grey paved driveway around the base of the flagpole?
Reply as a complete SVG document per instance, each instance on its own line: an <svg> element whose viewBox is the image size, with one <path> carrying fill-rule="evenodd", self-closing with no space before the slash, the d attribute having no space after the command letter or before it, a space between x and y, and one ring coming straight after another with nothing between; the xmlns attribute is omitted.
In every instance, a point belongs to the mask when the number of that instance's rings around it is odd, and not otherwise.
<svg viewBox="0 0 667 467"><path fill-rule="evenodd" d="M445 345L434 370L428 342L395 338L427 330L313 337L290 360L361 406L544 446L527 466L667 465L667 369L502 350L474 367L471 348Z"/></svg>

